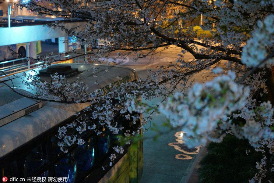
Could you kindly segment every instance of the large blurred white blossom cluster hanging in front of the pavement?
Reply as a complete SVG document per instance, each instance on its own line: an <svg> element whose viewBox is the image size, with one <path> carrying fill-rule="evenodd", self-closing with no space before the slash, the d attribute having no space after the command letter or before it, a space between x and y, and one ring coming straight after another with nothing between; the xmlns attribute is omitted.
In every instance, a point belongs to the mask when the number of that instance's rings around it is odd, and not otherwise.
<svg viewBox="0 0 274 183"><path fill-rule="evenodd" d="M235 77L229 72L204 84L195 83L186 96L175 93L160 106L173 126L182 126L188 146L205 144L227 116L245 106L249 88L234 82Z"/></svg>

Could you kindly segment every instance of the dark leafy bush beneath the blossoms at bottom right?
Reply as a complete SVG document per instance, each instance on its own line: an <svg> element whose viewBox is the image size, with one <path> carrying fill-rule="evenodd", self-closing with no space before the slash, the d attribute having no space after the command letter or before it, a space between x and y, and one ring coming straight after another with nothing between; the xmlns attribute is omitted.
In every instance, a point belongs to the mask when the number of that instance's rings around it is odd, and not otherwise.
<svg viewBox="0 0 274 183"><path fill-rule="evenodd" d="M227 135L221 143L209 143L207 149L199 169L199 183L248 182L256 172L256 161L262 158L248 141L233 135Z"/></svg>

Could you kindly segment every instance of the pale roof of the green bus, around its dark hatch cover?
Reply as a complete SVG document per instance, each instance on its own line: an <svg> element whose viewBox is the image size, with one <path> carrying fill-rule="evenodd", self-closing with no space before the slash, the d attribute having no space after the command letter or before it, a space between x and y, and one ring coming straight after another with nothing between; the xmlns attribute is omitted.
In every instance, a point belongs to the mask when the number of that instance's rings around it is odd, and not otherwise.
<svg viewBox="0 0 274 183"><path fill-rule="evenodd" d="M83 77L84 82L88 85L88 92L93 92L97 89L105 89L109 84L121 84L122 82L137 80L137 74L133 69L121 66L109 66L109 65L91 65L91 64L65 64L70 65L72 68L78 68L79 71L83 71L75 76L69 78L69 80L75 80L76 77ZM93 77L92 70L96 68L97 77ZM105 70L109 71L106 72ZM35 69L35 71L40 69ZM26 71L26 74L35 75L34 70ZM24 78L22 73L11 76L14 87L33 92L27 89L26 85L22 84ZM46 79L46 77L41 77ZM2 78L1 81L7 80L7 77ZM95 84L97 82L98 84ZM12 86L11 81L5 83ZM3 84L1 84L3 86ZM1 87L0 87L1 95ZM0 96L4 97L5 96ZM16 101L13 101L16 103ZM39 136L43 132L51 129L54 126L61 124L66 119L72 117L75 112L81 111L90 103L81 104L61 104L56 102L44 102L44 106L37 109L23 117L19 117L12 122L9 122L0 127L0 157L5 156L12 150L27 143L33 138Z"/></svg>

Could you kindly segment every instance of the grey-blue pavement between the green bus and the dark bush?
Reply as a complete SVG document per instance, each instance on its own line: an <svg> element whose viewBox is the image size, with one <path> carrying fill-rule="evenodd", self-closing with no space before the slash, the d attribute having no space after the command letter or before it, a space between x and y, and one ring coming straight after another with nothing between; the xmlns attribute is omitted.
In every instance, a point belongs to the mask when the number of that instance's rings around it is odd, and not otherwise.
<svg viewBox="0 0 274 183"><path fill-rule="evenodd" d="M154 99L150 103L159 102L158 100ZM206 153L206 148L202 147L198 154L185 154L174 149L174 146L168 144L177 142L174 135L181 129L170 130L163 127L164 122L166 122L166 118L163 115L154 116L152 123L158 130L164 132L156 141L153 140L156 132L152 130L152 125L145 125L149 130L144 133L144 164L140 183L197 183L198 162ZM176 159L175 156L178 154L185 154L193 158L190 160Z"/></svg>

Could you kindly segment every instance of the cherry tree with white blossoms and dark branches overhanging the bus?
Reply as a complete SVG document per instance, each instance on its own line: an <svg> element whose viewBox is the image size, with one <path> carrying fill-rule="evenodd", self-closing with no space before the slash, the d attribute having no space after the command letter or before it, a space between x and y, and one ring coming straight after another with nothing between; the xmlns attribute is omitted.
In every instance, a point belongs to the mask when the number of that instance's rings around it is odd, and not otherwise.
<svg viewBox="0 0 274 183"><path fill-rule="evenodd" d="M65 151L68 145L83 144L77 138L86 128L99 131L95 124L85 123L87 117L99 119L100 125L118 133L125 127L113 123L115 116L123 114L135 123L147 105L136 96L145 99L163 97L164 102L151 108L146 123L153 113L163 113L173 126L186 131L189 146L205 144L207 140L221 142L226 134L248 139L263 159L258 162L258 173L250 182L273 182L274 83L271 65L274 48L274 1L273 0L43 0L21 1L37 14L61 16L65 19L79 18L86 22L81 27L66 28L61 21L52 23L52 28L61 28L69 35L79 38L82 45L97 46L97 39L104 44L87 55L92 63L117 52L117 58L135 55L132 61L151 56L159 50L181 48L177 60L157 70L149 70L146 80L111 85L107 95L97 90L89 94L92 105L77 120L59 129L63 139L60 146ZM200 20L200 21L198 21ZM201 21L202 20L202 21ZM142 52L141 52L142 51ZM144 52L146 51L146 52ZM189 52L194 59L184 60ZM46 65L49 57L39 58ZM203 70L219 76L203 84L190 81L191 76ZM106 70L108 72L108 70ZM52 76L58 87L66 87L65 78ZM61 84L64 83L64 84ZM53 95L37 78L27 82L37 89L38 98ZM55 96L57 101L83 102L87 94L84 84L74 85L77 97L66 100ZM45 92L45 90L47 92ZM83 95L81 95L82 93ZM113 104L117 98L119 102ZM114 105L114 106L113 106ZM147 111L146 111L147 112ZM88 114L88 115L86 115ZM74 136L66 134L75 128ZM127 131L126 136L142 130ZM121 152L117 147L117 152ZM113 159L114 155L110 158ZM271 157L271 158L270 158Z"/></svg>

